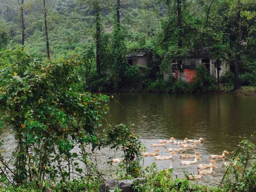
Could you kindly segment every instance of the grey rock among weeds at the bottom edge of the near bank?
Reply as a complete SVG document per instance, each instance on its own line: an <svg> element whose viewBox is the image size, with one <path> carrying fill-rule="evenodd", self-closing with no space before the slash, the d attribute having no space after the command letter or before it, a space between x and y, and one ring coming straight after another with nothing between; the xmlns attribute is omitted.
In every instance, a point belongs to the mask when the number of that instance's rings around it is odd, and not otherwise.
<svg viewBox="0 0 256 192"><path fill-rule="evenodd" d="M122 189L122 192L134 192L134 182L144 183L144 178L128 179L128 180L106 180L105 183L100 186L99 192L109 192L111 189Z"/></svg>

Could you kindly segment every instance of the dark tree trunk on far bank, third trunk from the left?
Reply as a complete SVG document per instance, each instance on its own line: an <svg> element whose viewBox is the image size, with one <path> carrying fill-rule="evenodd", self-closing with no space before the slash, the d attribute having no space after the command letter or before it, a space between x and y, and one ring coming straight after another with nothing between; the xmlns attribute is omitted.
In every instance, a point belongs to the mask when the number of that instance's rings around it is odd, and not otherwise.
<svg viewBox="0 0 256 192"><path fill-rule="evenodd" d="M95 4L95 10L96 10L96 67L97 67L97 73L100 76L101 75L101 28L100 28L100 17L99 17L99 3L98 1Z"/></svg>

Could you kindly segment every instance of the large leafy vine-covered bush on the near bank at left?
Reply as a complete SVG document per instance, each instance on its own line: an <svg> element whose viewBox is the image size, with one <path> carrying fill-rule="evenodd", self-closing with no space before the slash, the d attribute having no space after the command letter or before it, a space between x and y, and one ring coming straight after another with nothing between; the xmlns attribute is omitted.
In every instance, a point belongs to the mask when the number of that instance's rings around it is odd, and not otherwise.
<svg viewBox="0 0 256 192"><path fill-rule="evenodd" d="M0 125L12 127L17 144L13 158L0 155L2 181L41 186L46 180L92 174L100 179L91 156L94 150L115 142L98 136L109 97L84 92L83 80L76 73L82 61L74 57L42 62L21 49L0 52L0 58ZM120 128L116 139L122 131L131 134L128 128ZM123 137L121 144L126 140ZM135 136L128 141L137 145ZM119 140L115 144L120 145ZM75 147L78 152L72 151ZM137 151L128 150L129 154ZM126 147L124 151L128 154ZM129 160L129 164L134 162L131 157Z"/></svg>

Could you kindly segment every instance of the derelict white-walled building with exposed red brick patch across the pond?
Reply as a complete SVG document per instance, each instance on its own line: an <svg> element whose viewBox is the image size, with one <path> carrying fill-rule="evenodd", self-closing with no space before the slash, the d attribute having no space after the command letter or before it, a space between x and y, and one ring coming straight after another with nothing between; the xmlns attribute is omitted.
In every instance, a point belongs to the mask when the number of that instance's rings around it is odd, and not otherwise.
<svg viewBox="0 0 256 192"><path fill-rule="evenodd" d="M194 49L189 53L189 56L182 59L182 65L179 67L177 61L172 64L172 72L164 73L164 79L167 81L170 76L174 76L175 79L181 79L188 83L192 83L196 77L195 68L199 65L204 65L209 74L217 79L217 63L215 59L212 59L209 53L209 48L204 47L201 49ZM219 76L224 76L230 67L224 61L221 62Z"/></svg>

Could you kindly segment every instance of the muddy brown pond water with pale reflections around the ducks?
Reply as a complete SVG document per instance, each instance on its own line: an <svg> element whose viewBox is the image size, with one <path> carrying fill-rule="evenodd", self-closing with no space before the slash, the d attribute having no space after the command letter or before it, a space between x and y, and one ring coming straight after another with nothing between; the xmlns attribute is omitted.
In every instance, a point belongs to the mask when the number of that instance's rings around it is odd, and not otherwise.
<svg viewBox="0 0 256 192"><path fill-rule="evenodd" d="M199 139L203 137L204 143L196 149L188 149L183 154L194 154L200 151L202 160L199 163L209 163L209 154L221 154L222 151L232 151L240 141L240 136L249 137L256 130L256 97L235 96L231 94L207 95L181 95L174 96L166 93L114 93L109 107L110 113L105 117L106 124L117 125L134 124L132 131L146 146L148 152L156 148L150 147L151 143L175 137L176 140ZM11 157L15 148L12 133L5 128L0 136L5 140L6 158ZM177 148L178 145L167 144ZM163 147L160 148L161 156L170 153ZM76 148L74 149L76 151ZM104 149L96 153L97 163L102 169L108 169L106 161L114 153ZM179 154L179 153L178 153ZM116 158L119 155L116 154ZM217 160L218 169L212 175L206 175L198 181L199 184L217 185L223 177L224 167ZM174 177L184 177L184 170L197 173L196 164L183 166L178 155L173 155L172 160L154 160L154 157L145 157L143 166L153 162L157 168L168 169L170 164L174 169ZM192 159L189 159L192 160Z"/></svg>

